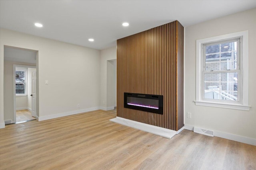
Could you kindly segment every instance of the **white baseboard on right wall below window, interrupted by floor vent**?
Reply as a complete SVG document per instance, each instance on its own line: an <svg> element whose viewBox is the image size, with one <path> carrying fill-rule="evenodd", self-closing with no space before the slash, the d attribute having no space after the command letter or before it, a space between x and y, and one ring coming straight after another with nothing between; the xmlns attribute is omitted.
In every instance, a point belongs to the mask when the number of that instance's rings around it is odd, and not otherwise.
<svg viewBox="0 0 256 170"><path fill-rule="evenodd" d="M185 124L184 127L187 130L194 131L194 126L193 125L186 125ZM249 138L249 137L234 135L234 134L220 132L220 131L214 131L214 136L256 146L256 139Z"/></svg>

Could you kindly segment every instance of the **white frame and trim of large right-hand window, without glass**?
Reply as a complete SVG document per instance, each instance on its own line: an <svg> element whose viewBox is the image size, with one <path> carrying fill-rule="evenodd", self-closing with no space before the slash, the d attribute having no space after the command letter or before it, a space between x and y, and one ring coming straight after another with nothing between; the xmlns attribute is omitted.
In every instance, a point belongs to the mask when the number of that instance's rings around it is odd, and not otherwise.
<svg viewBox="0 0 256 170"><path fill-rule="evenodd" d="M203 86L203 70L204 70L204 56L203 46L207 43L213 43L218 41L225 41L228 39L235 39L241 37L242 41L240 44L240 101L239 102L222 102L221 100L205 100L203 97L204 86ZM239 110L250 110L251 106L248 106L248 87L249 87L249 37L248 31L241 31L236 33L230 33L220 35L216 37L210 37L205 39L196 40L196 105L199 106L210 106L210 107L221 107L228 109L239 109Z"/></svg>

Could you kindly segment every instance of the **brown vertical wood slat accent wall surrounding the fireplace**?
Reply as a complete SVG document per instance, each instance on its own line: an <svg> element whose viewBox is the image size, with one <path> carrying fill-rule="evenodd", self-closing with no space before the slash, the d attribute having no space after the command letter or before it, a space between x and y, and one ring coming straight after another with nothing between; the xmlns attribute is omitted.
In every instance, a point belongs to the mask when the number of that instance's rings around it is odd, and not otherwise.
<svg viewBox="0 0 256 170"><path fill-rule="evenodd" d="M117 40L117 116L183 127L184 28L174 21ZM164 114L124 108L124 92L164 96Z"/></svg>

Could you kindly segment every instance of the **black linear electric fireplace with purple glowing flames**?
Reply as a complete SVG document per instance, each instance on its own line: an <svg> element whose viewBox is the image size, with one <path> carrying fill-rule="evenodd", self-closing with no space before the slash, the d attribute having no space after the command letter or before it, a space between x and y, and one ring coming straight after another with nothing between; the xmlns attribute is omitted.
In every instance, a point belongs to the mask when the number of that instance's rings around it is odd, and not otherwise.
<svg viewBox="0 0 256 170"><path fill-rule="evenodd" d="M124 93L124 107L163 114L163 96L151 94Z"/></svg>

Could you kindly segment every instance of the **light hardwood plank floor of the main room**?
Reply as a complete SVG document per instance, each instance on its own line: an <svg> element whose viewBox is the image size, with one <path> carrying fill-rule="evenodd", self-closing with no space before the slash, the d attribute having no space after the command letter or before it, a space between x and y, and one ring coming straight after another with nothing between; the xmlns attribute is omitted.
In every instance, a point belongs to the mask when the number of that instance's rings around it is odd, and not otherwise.
<svg viewBox="0 0 256 170"><path fill-rule="evenodd" d="M91 111L0 129L0 169L255 170L256 146L183 130L166 139Z"/></svg>

